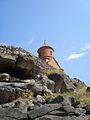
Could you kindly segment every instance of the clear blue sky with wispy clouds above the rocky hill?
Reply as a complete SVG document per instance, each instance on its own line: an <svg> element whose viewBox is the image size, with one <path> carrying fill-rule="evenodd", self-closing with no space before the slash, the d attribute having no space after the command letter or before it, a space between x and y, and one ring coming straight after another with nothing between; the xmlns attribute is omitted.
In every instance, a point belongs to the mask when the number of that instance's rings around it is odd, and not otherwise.
<svg viewBox="0 0 90 120"><path fill-rule="evenodd" d="M44 40L67 74L90 85L90 0L0 0L0 44L37 55Z"/></svg>

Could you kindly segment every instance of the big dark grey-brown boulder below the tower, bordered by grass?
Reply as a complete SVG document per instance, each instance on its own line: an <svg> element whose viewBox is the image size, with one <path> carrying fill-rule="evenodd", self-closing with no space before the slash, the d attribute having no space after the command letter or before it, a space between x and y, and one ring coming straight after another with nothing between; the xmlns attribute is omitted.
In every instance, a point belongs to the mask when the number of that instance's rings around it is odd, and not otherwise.
<svg viewBox="0 0 90 120"><path fill-rule="evenodd" d="M75 90L72 80L67 75L51 74L49 78L55 82L55 92L71 92Z"/></svg>

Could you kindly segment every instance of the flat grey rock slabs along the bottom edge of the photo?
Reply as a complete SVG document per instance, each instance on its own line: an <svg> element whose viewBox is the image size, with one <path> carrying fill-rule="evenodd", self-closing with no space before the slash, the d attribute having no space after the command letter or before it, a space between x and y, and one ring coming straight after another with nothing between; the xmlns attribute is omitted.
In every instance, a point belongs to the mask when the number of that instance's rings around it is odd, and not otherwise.
<svg viewBox="0 0 90 120"><path fill-rule="evenodd" d="M17 101L13 107L10 104L6 107L2 105L0 120L89 120L90 115L90 106L80 106L80 104L72 106L71 101L63 96L57 96L52 103L50 101L48 104L27 104L27 107L26 104L20 104L21 102ZM24 106L23 109L20 106Z"/></svg>

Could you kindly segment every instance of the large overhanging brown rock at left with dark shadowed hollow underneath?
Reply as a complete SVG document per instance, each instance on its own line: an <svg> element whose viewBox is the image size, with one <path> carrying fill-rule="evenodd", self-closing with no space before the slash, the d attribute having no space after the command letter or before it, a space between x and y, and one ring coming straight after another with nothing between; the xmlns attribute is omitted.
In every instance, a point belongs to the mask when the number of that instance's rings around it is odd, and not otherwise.
<svg viewBox="0 0 90 120"><path fill-rule="evenodd" d="M0 72L9 73L11 76L26 78L49 66L37 57L22 48L14 46L0 46Z"/></svg>

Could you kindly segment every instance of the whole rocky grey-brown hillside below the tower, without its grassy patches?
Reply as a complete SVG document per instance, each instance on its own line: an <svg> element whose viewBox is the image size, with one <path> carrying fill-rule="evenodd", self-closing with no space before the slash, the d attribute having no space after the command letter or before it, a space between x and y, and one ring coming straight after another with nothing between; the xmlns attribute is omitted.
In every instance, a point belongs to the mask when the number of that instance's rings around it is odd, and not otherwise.
<svg viewBox="0 0 90 120"><path fill-rule="evenodd" d="M89 105L53 95L82 82L54 70L21 48L0 46L0 120L89 120Z"/></svg>

